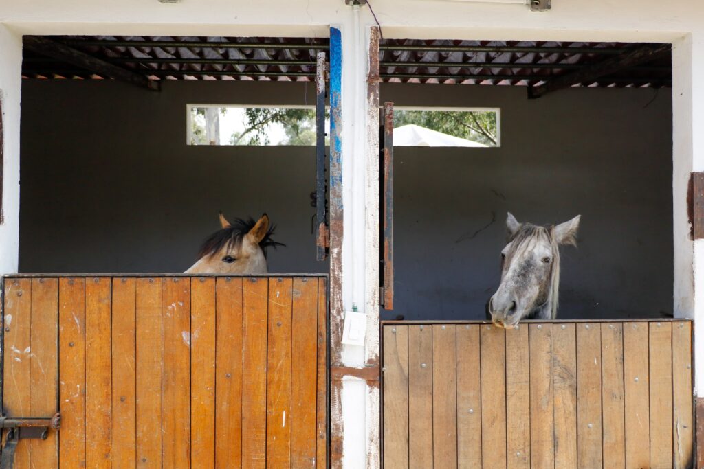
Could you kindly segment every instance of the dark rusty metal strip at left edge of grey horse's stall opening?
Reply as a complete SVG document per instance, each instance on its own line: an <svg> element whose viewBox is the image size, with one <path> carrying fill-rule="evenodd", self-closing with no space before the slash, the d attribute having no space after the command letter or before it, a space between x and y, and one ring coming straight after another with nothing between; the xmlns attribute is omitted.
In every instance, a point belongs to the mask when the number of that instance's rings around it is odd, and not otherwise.
<svg viewBox="0 0 704 469"><path fill-rule="evenodd" d="M394 309L394 103L384 103L384 309Z"/></svg>

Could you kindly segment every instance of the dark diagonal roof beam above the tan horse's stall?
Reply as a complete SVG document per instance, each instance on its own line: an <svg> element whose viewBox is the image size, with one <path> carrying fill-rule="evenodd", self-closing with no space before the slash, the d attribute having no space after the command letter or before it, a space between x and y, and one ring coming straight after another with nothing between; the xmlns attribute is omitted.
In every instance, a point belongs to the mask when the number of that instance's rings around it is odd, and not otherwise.
<svg viewBox="0 0 704 469"><path fill-rule="evenodd" d="M70 63L71 65L99 75L142 86L152 91L159 91L159 83L156 80L151 80L144 75L139 75L125 68L118 67L117 65L113 65L112 63L108 63L105 60L101 60L87 53L77 51L76 49L72 49L69 46L47 39L46 37L25 36L23 37L23 46L32 52L61 60L61 62Z"/></svg>

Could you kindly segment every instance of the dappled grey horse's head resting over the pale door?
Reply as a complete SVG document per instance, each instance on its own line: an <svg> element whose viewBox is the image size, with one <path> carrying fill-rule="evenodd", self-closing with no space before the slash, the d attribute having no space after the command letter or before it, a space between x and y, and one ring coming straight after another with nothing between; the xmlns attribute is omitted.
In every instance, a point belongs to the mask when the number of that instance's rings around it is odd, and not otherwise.
<svg viewBox="0 0 704 469"><path fill-rule="evenodd" d="M506 228L501 285L487 303L489 319L508 329L521 319L555 319L560 288L558 245L577 245L579 215L557 226L536 226L521 224L508 214Z"/></svg>

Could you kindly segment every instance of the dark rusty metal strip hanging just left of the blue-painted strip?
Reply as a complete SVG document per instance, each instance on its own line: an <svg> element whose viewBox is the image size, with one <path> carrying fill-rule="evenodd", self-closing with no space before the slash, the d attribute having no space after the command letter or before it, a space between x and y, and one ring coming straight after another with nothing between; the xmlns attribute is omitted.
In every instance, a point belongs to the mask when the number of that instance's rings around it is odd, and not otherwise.
<svg viewBox="0 0 704 469"><path fill-rule="evenodd" d="M325 52L318 52L315 70L315 260L324 261L329 247L325 219Z"/></svg>

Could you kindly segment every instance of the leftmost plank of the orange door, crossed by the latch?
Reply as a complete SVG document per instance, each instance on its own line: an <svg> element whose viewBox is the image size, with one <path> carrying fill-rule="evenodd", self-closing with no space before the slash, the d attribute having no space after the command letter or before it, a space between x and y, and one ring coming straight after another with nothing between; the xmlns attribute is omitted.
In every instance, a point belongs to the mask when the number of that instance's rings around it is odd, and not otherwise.
<svg viewBox="0 0 704 469"><path fill-rule="evenodd" d="M30 330L32 327L32 280L5 278L3 414L29 416L30 411ZM15 468L30 467L30 445L20 441L15 449Z"/></svg>

